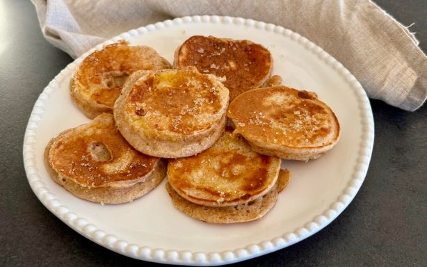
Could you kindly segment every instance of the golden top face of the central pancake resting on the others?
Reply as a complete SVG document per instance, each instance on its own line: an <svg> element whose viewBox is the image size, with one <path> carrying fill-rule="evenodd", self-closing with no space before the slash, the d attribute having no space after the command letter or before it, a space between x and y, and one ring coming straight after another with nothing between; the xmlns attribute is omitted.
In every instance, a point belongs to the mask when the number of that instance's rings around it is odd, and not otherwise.
<svg viewBox="0 0 427 267"><path fill-rule="evenodd" d="M147 74L134 83L125 102L136 128L167 139L202 132L218 123L228 105L228 90L214 76L188 67Z"/></svg>

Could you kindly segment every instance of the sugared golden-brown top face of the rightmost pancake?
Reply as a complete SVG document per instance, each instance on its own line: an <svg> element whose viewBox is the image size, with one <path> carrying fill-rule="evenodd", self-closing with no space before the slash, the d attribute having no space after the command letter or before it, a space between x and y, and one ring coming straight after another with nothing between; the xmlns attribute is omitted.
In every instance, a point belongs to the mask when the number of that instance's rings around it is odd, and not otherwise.
<svg viewBox="0 0 427 267"><path fill-rule="evenodd" d="M259 88L239 95L227 116L251 142L313 148L336 143L339 122L313 92L285 86Z"/></svg>

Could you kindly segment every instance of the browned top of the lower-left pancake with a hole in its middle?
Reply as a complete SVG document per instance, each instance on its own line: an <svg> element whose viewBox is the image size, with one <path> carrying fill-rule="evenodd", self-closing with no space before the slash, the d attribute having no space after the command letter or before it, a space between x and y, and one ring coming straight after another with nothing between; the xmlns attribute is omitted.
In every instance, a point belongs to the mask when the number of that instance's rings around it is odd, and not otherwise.
<svg viewBox="0 0 427 267"><path fill-rule="evenodd" d="M106 113L57 136L48 159L60 177L88 187L140 181L159 161L131 147Z"/></svg>

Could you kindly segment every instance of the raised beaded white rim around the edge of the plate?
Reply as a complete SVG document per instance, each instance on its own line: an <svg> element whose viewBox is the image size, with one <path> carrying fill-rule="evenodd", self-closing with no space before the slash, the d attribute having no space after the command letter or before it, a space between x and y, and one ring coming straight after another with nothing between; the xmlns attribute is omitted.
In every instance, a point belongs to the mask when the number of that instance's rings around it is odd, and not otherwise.
<svg viewBox="0 0 427 267"><path fill-rule="evenodd" d="M280 33L287 38L291 38L293 41L303 45L305 49L312 51L315 56L318 56L326 64L331 65L336 72L339 72L341 76L346 79L349 86L355 90L355 94L358 100L358 106L360 108L360 117L362 119L362 144L360 144L360 152L358 154L357 162L360 162L357 170L354 170L351 181L354 181L355 186L346 186L344 192L337 197L337 201L330 205L330 209L323 211L323 213L316 216L318 220L309 221L301 227L295 229L293 232L283 233L281 236L277 236L271 240L262 241L258 244L249 244L245 248L236 248L233 251L226 250L221 252L188 252L188 251L176 251L176 250L163 250L159 248L148 248L147 246L138 246L136 244L128 244L126 241L120 240L111 234L102 233L102 229L97 228L94 224L88 222L85 218L78 218L72 211L63 211L67 207L63 206L59 200L56 200L53 194L44 186L43 182L38 179L38 173L34 168L33 158L33 129L37 128L38 120L41 120L40 114L43 113L42 106L45 101L49 99L49 94L58 88L58 84L61 83L63 76L70 74L76 67L76 64L80 63L83 58L88 56L96 49L102 48L104 44L110 44L120 39L129 39L138 35L144 35L150 31L161 30L165 27L176 26L189 23L222 23L222 24L245 24L247 26L255 26L258 29L265 29L267 31L274 31ZM41 108L40 108L41 106ZM29 122L26 127L24 135L23 145L23 158L24 168L26 171L27 179L31 186L32 191L35 193L38 200L49 210L54 213L56 217L62 220L66 225L74 229L82 236L85 236L89 240L102 245L104 248L108 248L119 254L123 254L127 257L134 259L140 259L145 261L152 261L162 264L180 264L188 266L218 266L223 264L231 264L238 261L244 261L259 257L264 254L286 248L289 245L293 245L305 238L316 234L321 229L332 223L339 214L346 209L348 204L351 203L357 192L359 191L366 172L369 167L371 159L371 153L373 149L373 115L369 99L366 96L360 83L355 77L346 70L335 58L330 56L328 53L323 51L313 42L307 40L303 36L295 33L289 29L285 29L282 26L275 26L265 22L258 22L253 19L244 19L241 17L228 17L228 16L217 16L217 15L195 15L186 16L175 19L167 19L164 22L157 22L155 24L149 24L147 26L140 27L138 29L131 29L125 33L111 38L93 47L83 55L76 58L72 63L68 64L55 78L49 82L48 86L42 91L38 99L36 100L33 110L29 118ZM348 184L351 184L351 181ZM349 191L351 193L346 193ZM49 195L50 194L50 195ZM62 210L62 211L61 211ZM85 223L86 221L86 223ZM319 223L319 221L321 221ZM80 223L79 223L80 222ZM82 226L83 225L83 226ZM307 229L307 225L314 225ZM86 229L86 230L85 230ZM91 229L91 230L90 230ZM97 233L101 237L97 237ZM108 241L112 239L113 241ZM278 240L278 241L277 241ZM251 251L253 250L253 251Z"/></svg>

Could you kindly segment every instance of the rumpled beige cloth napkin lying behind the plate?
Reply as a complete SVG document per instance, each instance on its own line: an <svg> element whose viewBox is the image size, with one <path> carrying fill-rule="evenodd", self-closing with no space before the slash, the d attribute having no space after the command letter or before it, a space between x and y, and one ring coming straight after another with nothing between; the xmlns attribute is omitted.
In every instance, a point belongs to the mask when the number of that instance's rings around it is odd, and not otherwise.
<svg viewBox="0 0 427 267"><path fill-rule="evenodd" d="M414 111L427 97L427 57L369 0L33 0L45 38L72 57L124 31L186 15L228 15L284 26L337 58L369 97Z"/></svg>

